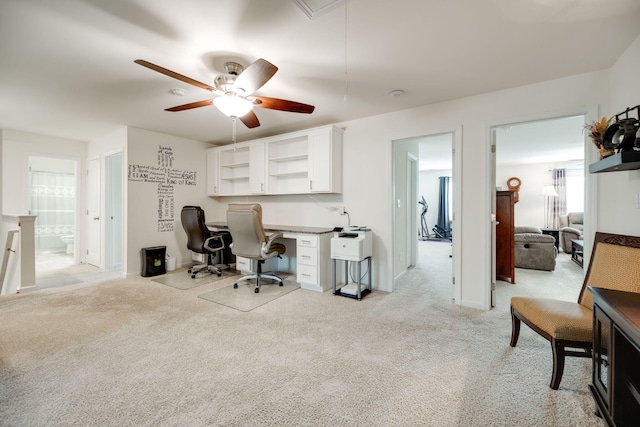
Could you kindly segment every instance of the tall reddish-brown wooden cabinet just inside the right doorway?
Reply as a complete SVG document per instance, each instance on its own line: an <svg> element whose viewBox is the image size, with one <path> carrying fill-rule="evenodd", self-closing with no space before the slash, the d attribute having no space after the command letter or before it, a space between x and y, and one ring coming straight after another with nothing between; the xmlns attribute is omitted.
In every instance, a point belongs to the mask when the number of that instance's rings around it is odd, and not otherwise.
<svg viewBox="0 0 640 427"><path fill-rule="evenodd" d="M496 191L496 279L516 283L514 230L515 192Z"/></svg>

